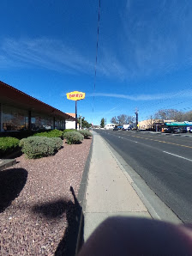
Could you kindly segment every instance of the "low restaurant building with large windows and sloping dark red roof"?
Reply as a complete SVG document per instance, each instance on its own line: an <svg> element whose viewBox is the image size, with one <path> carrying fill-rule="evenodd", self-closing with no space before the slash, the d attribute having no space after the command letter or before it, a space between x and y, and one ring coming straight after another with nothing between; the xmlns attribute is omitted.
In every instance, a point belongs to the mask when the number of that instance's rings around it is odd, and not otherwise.
<svg viewBox="0 0 192 256"><path fill-rule="evenodd" d="M65 129L75 118L0 81L0 131Z"/></svg>

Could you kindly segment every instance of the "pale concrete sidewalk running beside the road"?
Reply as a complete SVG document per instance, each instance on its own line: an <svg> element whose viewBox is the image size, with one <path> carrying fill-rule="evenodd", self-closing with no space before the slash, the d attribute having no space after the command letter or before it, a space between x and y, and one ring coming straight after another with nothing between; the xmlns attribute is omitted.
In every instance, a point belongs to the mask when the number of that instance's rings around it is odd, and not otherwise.
<svg viewBox="0 0 192 256"><path fill-rule="evenodd" d="M84 209L84 239L87 241L93 230L108 216L149 217L147 208L131 185L133 180L105 143L93 131L93 154L87 179Z"/></svg>

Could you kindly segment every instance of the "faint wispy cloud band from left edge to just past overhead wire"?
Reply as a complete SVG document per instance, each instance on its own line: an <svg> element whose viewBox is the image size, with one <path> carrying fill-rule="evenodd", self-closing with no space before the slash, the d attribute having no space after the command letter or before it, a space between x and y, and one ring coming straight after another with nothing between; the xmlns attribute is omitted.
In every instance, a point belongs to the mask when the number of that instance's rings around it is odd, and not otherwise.
<svg viewBox="0 0 192 256"><path fill-rule="evenodd" d="M0 69L3 68L42 68L67 73L94 73L94 59L84 56L77 49L66 46L61 40L48 38L5 39L0 42ZM120 77L125 68L115 55L102 51L102 61L97 65L98 76Z"/></svg>

